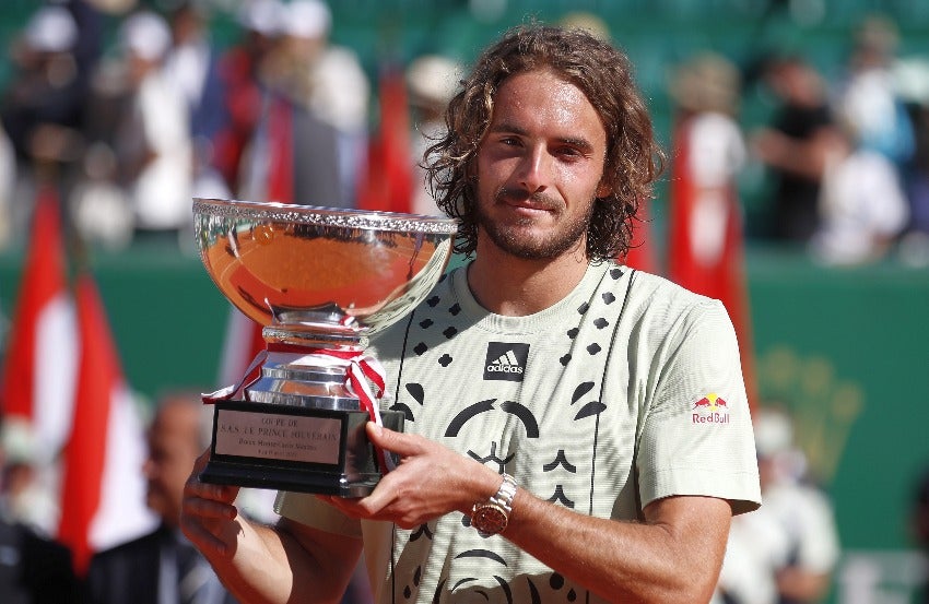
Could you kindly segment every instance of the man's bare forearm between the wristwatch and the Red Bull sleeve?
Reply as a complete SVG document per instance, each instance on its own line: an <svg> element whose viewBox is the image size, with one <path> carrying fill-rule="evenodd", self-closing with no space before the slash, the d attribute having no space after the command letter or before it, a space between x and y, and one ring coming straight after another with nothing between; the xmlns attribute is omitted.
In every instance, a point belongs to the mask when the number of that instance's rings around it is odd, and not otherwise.
<svg viewBox="0 0 929 604"><path fill-rule="evenodd" d="M699 499L701 505L708 501ZM727 508L728 516L728 505L717 502ZM510 520L504 536L514 544L578 584L618 602L708 602L725 547L718 526L694 534L666 522L591 518L521 489ZM705 555L698 555L701 552Z"/></svg>

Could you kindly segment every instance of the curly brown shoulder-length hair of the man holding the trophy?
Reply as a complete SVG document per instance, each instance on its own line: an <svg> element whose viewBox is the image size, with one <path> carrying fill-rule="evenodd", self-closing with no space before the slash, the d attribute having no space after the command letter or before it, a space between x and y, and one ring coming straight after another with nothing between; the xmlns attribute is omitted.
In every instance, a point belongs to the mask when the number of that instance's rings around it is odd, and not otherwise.
<svg viewBox="0 0 929 604"><path fill-rule="evenodd" d="M481 55L448 105L446 133L423 156L436 203L461 223L455 251L471 254L477 249L472 163L491 123L494 95L510 75L538 69L551 69L580 88L607 129L602 183L611 193L595 203L587 254L595 261L623 256L632 244L638 208L654 197L663 165L632 64L625 54L584 29L534 23L510 29Z"/></svg>

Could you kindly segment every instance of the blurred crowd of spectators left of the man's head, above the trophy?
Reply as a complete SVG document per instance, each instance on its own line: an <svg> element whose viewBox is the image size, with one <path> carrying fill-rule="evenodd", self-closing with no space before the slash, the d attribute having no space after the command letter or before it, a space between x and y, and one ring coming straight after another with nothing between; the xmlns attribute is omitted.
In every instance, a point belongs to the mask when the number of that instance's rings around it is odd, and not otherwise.
<svg viewBox="0 0 929 604"><path fill-rule="evenodd" d="M0 245L22 241L42 187L58 191L72 234L110 249L191 246L192 197L355 204L373 91L356 54L330 43L327 3L240 2L223 47L204 2L105 4L48 2L12 43ZM409 66L418 132L434 130L455 69L438 56Z"/></svg>

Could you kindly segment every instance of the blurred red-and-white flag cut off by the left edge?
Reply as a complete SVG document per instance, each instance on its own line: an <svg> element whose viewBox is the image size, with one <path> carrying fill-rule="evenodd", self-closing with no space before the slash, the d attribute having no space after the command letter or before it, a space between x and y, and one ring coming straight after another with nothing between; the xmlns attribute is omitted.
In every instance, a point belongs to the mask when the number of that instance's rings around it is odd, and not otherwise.
<svg viewBox="0 0 929 604"><path fill-rule="evenodd" d="M40 463L60 452L71 427L77 337L68 291L58 199L50 187L36 199L32 238L0 383L3 415L32 425Z"/></svg>

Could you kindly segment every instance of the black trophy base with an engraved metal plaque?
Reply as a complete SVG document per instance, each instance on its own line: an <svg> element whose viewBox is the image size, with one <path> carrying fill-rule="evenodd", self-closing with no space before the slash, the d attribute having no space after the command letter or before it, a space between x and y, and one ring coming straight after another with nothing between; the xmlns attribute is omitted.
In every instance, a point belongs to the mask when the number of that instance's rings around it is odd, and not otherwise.
<svg viewBox="0 0 929 604"><path fill-rule="evenodd" d="M245 401L214 406L204 483L364 497L380 481L365 411ZM403 428L402 412L383 412L381 419L387 428Z"/></svg>

